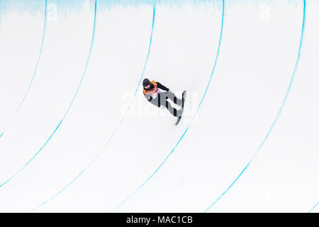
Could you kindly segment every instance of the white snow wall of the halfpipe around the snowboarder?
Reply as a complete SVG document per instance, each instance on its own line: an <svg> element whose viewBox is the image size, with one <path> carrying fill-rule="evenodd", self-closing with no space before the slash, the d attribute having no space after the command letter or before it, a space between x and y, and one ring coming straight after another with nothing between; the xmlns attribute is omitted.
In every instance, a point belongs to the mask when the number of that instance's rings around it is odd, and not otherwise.
<svg viewBox="0 0 319 227"><path fill-rule="evenodd" d="M68 11L47 1L38 69L11 121L38 60L44 2L36 13L1 11L0 133L11 123L0 138L0 184L13 178L0 187L0 211L108 212L132 195L115 211L203 212L240 175L276 118L298 57L303 1L225 1L216 69L191 126L218 52L221 0L157 4L148 59L152 4L99 7L98 0L89 55L94 1ZM308 212L318 202L319 2L306 3L284 109L250 166L208 212ZM179 96L187 90L179 126L147 103L141 86L130 105L144 67L142 78Z"/></svg>

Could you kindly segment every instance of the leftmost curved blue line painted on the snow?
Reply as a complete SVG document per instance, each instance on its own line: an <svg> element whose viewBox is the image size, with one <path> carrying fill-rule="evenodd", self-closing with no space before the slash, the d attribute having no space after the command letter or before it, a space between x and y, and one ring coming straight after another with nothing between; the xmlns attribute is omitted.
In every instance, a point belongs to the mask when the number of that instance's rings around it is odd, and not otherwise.
<svg viewBox="0 0 319 227"><path fill-rule="evenodd" d="M35 77L36 72L38 71L38 65L40 62L40 57L42 55L42 50L43 50L43 42L44 42L44 38L45 38L45 28L46 28L46 24L47 24L47 0L45 0L45 16L44 16L44 26L43 26L43 35L42 35L42 41L41 41L41 46L40 46L40 52L38 55L38 60L37 63L35 65L35 69L33 71L33 75L31 77L28 89L26 90L26 93L23 96L23 99L21 100L20 104L18 105L18 109L16 109L16 112L13 114L13 116L11 117L9 123L6 124L6 126L4 127L4 130L2 131L2 133L0 134L0 138L2 137L2 135L4 135L4 133L6 132L6 129L9 128L9 126L11 125L12 121L14 118L16 118L16 115L18 114L18 111L20 111L22 104L24 103L24 101L26 100L26 96L28 96L28 93L30 92L30 88L33 84L33 80Z"/></svg>

